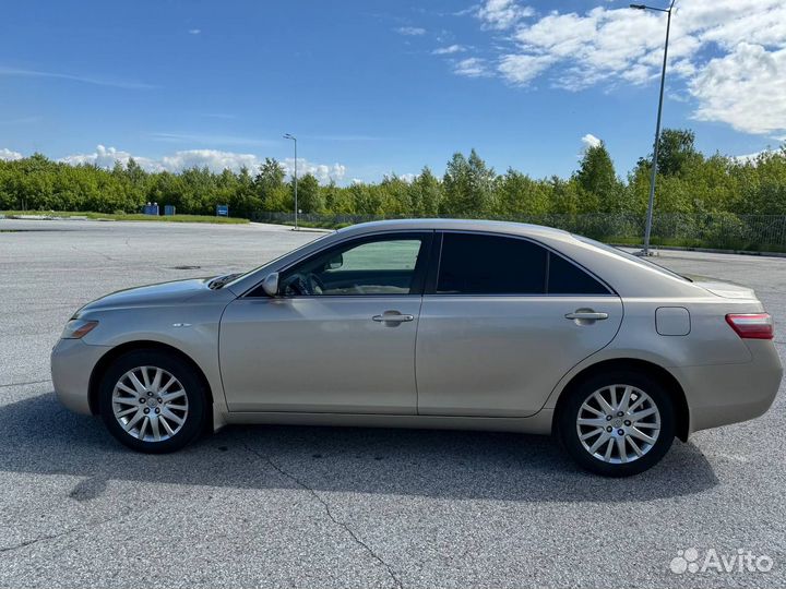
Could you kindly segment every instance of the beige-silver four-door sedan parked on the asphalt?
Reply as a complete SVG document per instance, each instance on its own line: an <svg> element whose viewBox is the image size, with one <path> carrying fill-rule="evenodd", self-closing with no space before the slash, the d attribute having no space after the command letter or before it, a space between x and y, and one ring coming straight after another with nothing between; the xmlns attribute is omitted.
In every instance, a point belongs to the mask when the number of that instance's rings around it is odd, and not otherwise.
<svg viewBox="0 0 786 589"><path fill-rule="evenodd" d="M395 220L98 299L51 370L63 405L142 452L229 423L454 428L553 433L626 476L766 411L772 339L745 287L546 227Z"/></svg>

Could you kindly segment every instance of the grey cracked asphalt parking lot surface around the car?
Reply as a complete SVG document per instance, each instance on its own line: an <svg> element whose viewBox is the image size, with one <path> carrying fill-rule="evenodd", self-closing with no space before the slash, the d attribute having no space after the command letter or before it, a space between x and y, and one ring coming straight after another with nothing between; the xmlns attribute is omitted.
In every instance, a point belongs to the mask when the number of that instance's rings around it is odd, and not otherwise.
<svg viewBox="0 0 786 589"><path fill-rule="evenodd" d="M624 480L577 470L548 437L500 433L234 426L144 456L57 402L49 350L82 304L315 237L0 220L1 587L786 586L783 386L764 417L676 441ZM784 359L786 259L658 262L752 286ZM672 573L691 548L773 567Z"/></svg>

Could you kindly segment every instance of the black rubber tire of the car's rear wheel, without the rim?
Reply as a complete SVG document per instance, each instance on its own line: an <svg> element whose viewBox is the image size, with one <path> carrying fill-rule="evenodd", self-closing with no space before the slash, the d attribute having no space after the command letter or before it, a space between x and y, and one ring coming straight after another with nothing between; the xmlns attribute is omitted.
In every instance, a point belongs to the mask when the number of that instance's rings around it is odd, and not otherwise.
<svg viewBox="0 0 786 589"><path fill-rule="evenodd" d="M591 454L591 448L584 447L580 440L576 423L582 405L595 392L610 385L631 385L642 390L652 399L660 417L660 430L655 443L651 445L643 456L634 458L632 461L605 461L603 458ZM647 374L626 370L615 370L596 374L573 386L571 390L567 392L567 395L568 397L564 399L564 402L560 404L559 414L557 416L558 435L568 454L570 454L582 468L604 477L630 477L632 474L639 474L656 465L671 447L675 437L674 402L663 385ZM595 425L585 428L587 428L588 431L588 429L594 426ZM598 434L598 437L591 437L587 444L591 444L594 440L598 440L599 435L603 435L603 432ZM635 441L638 444L641 444L641 441ZM630 444L627 441L620 443ZM626 445L624 447L628 446ZM612 450L617 456L620 455L618 448L612 448Z"/></svg>

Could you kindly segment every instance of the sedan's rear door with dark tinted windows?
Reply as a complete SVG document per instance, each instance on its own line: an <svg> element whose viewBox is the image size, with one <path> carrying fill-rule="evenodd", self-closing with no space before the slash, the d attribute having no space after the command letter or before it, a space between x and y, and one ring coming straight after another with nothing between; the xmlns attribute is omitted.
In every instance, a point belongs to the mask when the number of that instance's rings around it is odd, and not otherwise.
<svg viewBox="0 0 786 589"><path fill-rule="evenodd" d="M444 232L434 248L417 334L420 414L533 414L620 326L611 289L534 241Z"/></svg>

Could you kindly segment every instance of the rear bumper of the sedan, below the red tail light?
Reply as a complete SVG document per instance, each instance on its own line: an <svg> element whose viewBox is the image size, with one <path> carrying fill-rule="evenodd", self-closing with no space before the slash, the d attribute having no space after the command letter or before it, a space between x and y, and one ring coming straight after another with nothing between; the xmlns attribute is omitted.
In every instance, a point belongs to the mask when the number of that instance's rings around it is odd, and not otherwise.
<svg viewBox="0 0 786 589"><path fill-rule="evenodd" d="M763 414L781 387L783 366L769 340L747 340L751 362L671 369L690 409L689 433Z"/></svg>

